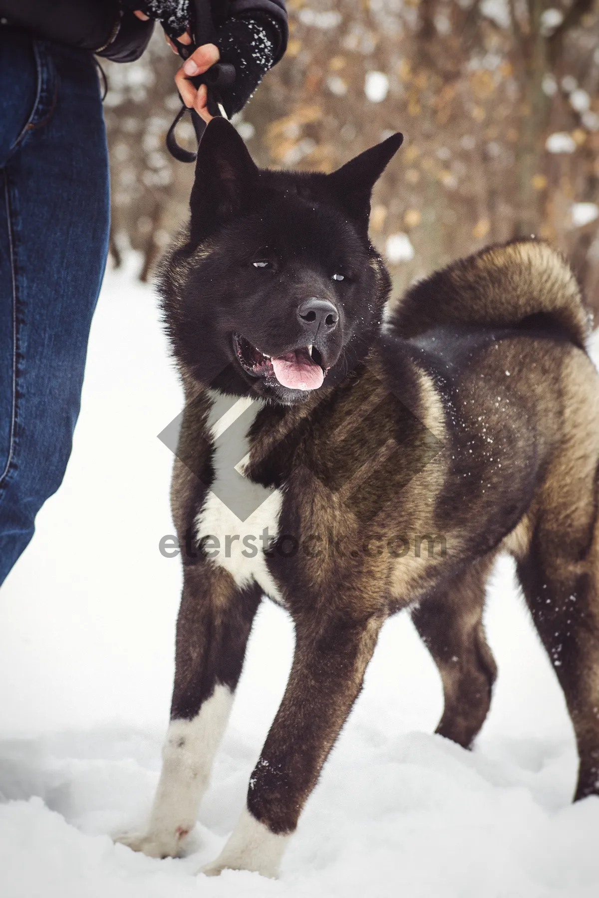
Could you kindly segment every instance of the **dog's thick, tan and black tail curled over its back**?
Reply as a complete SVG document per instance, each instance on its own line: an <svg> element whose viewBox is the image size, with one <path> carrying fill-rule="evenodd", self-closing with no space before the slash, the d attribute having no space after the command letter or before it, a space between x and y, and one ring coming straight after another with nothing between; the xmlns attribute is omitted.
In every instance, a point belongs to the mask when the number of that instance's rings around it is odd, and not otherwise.
<svg viewBox="0 0 599 898"><path fill-rule="evenodd" d="M447 324L549 327L583 349L590 323L568 263L536 240L490 246L452 262L411 286L389 321L408 339Z"/></svg>

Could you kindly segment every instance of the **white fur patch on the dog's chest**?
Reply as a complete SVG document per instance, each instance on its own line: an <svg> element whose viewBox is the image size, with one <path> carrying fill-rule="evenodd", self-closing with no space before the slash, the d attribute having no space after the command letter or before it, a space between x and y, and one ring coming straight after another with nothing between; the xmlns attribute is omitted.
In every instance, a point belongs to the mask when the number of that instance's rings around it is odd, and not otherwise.
<svg viewBox="0 0 599 898"><path fill-rule="evenodd" d="M247 434L262 403L239 399L224 411L225 397L215 394L214 399L208 427L215 479L196 518L198 540L206 540L208 558L228 570L238 586L255 580L282 601L264 557L269 542L277 539L282 496L243 476L250 452Z"/></svg>

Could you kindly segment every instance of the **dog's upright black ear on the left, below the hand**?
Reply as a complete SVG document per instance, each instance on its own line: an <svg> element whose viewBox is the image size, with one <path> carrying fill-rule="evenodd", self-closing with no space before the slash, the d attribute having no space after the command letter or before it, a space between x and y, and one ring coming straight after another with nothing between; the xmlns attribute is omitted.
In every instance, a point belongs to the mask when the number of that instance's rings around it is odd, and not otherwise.
<svg viewBox="0 0 599 898"><path fill-rule="evenodd" d="M242 210L258 168L242 137L226 119L212 119L199 142L191 207L191 242L204 240Z"/></svg>

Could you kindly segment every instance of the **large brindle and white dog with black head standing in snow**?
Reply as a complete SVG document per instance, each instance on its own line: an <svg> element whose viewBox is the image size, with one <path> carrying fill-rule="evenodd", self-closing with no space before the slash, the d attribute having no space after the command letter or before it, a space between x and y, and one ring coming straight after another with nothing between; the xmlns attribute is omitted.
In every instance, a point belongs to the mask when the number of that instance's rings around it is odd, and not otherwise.
<svg viewBox="0 0 599 898"><path fill-rule="evenodd" d="M386 310L368 239L388 137L331 174L271 172L223 119L198 150L189 226L159 277L186 404L172 478L184 585L172 716L147 829L176 856L196 823L261 596L291 615L284 698L220 856L277 876L361 689L408 609L438 666L436 732L468 747L496 665L485 581L511 553L599 794L599 380L568 265L516 240ZM190 538L191 535L191 538Z"/></svg>

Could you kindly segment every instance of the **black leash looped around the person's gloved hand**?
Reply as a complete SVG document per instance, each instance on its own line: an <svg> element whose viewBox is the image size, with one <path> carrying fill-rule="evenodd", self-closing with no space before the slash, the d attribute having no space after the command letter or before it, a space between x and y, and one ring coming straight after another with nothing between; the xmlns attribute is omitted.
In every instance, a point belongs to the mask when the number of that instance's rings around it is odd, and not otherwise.
<svg viewBox="0 0 599 898"><path fill-rule="evenodd" d="M191 31L193 33L190 35L191 43L180 44L179 41L175 41L179 55L182 59L189 58L193 51L203 44L216 43L216 28L212 21L209 0L195 0L194 12L194 21L191 25ZM226 113L222 103L222 91L226 90L228 87L232 87L234 80L235 67L226 62L216 62L214 66L210 66L207 72L204 72L203 75L194 75L192 78L189 78L189 81L193 84L196 90L200 84L206 84L206 105L208 112L212 116L224 116L225 119ZM177 138L175 137L175 128L187 111L188 107L181 100L181 110L177 113L171 128L169 128L168 134L166 135L166 148L175 159L179 160L180 163L193 163L198 156L197 153L191 153L189 150L183 149L183 147L177 143ZM206 122L198 116L196 110L191 109L189 112L191 113L191 121L199 144L201 136L206 128Z"/></svg>

